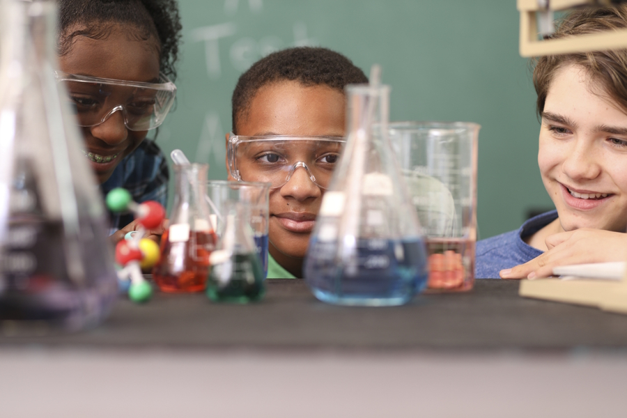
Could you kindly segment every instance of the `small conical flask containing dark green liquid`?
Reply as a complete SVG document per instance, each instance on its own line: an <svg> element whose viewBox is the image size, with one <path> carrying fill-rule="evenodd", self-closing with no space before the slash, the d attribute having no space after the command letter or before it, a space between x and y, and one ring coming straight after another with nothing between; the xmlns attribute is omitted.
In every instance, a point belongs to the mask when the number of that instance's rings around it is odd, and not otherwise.
<svg viewBox="0 0 627 418"><path fill-rule="evenodd" d="M238 201L229 201L226 206L226 225L210 257L207 295L221 302L260 300L265 290L265 273L248 224L250 208Z"/></svg>

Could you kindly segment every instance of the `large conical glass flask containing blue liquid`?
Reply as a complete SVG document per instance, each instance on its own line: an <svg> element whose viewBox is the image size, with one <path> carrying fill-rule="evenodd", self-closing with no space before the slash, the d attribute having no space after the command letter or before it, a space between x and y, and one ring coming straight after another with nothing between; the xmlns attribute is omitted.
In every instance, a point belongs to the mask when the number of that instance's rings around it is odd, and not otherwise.
<svg viewBox="0 0 627 418"><path fill-rule="evenodd" d="M351 85L346 149L311 234L304 275L318 299L396 305L426 285L426 249L387 134L389 86Z"/></svg>

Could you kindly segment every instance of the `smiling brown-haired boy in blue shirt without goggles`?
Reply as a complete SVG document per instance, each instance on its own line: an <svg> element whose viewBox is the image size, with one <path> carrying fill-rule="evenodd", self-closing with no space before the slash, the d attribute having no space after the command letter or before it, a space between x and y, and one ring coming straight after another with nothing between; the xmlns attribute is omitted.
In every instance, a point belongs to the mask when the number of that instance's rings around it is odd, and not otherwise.
<svg viewBox="0 0 627 418"><path fill-rule="evenodd" d="M627 6L577 10L555 38L627 28ZM477 242L476 277L546 277L627 257L627 50L544 56L538 164L555 211Z"/></svg>

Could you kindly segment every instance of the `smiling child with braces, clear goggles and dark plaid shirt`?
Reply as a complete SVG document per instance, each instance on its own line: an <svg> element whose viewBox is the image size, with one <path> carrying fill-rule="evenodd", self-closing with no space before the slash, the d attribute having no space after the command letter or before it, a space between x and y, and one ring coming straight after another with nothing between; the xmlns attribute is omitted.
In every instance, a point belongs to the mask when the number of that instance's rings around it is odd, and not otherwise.
<svg viewBox="0 0 627 418"><path fill-rule="evenodd" d="M148 130L160 126L174 101L180 19L176 0L60 0L59 68L77 123L82 152L103 194L128 189L134 201L166 205L167 160ZM120 240L132 215L111 215ZM163 228L150 231L158 240Z"/></svg>

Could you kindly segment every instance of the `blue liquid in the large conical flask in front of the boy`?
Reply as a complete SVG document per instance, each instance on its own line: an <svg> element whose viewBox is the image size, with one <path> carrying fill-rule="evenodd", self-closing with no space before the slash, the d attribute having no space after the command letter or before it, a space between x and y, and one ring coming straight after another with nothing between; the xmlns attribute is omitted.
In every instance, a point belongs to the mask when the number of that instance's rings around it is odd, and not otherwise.
<svg viewBox="0 0 627 418"><path fill-rule="evenodd" d="M337 242L312 240L304 275L314 295L333 304L391 306L409 302L427 284L424 242L357 240L354 256L337 265Z"/></svg>

